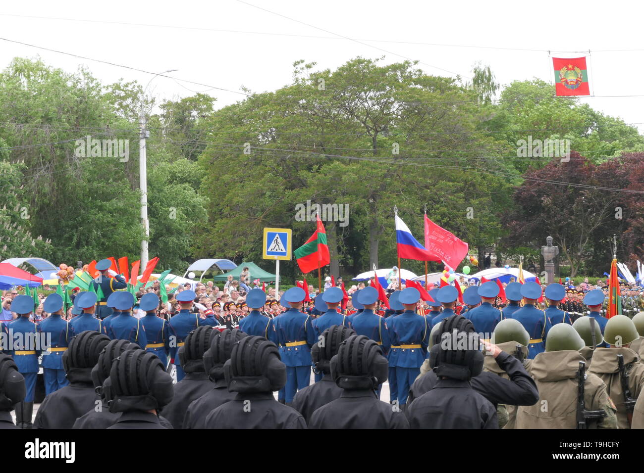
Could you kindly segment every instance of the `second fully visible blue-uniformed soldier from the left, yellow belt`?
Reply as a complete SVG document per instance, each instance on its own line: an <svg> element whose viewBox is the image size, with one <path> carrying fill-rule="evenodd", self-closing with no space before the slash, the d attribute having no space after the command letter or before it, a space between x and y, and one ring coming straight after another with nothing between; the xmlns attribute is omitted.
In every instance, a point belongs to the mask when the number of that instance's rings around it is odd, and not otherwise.
<svg viewBox="0 0 644 473"><path fill-rule="evenodd" d="M43 310L50 314L40 324L41 333L45 334L50 343L47 351L43 353L44 393L48 396L70 384L62 367L62 352L66 351L71 337L75 334L69 322L62 319L61 295L57 293L48 295L44 300Z"/></svg>

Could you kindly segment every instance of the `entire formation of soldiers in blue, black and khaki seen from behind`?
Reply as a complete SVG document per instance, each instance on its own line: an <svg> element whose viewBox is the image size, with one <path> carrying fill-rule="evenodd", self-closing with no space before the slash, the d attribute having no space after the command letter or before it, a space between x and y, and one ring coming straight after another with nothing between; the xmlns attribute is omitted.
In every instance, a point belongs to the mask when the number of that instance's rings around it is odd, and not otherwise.
<svg viewBox="0 0 644 473"><path fill-rule="evenodd" d="M407 287L390 293L384 311L373 285L352 293L353 310L343 310L340 288L305 308L307 293L294 287L270 317L267 294L254 288L247 315L227 328L193 311L191 290L176 295L180 310L169 320L156 315L155 293L138 302L146 315L133 317L134 296L118 290L125 283L106 264L93 283L104 297L76 295L69 322L57 293L44 301L52 315L41 324L30 320L31 297L12 301L18 318L0 324L12 342L0 354L0 427L644 427L644 312L606 319L601 290L584 294L587 314L571 314L561 284L545 293L507 284L504 308L491 281L468 287L462 307L454 286ZM46 397L32 425L40 356Z"/></svg>

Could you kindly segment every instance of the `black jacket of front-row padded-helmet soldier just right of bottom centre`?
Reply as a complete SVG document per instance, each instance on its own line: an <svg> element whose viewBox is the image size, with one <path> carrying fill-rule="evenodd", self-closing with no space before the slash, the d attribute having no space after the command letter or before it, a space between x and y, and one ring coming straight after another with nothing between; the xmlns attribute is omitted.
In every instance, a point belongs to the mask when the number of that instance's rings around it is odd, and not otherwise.
<svg viewBox="0 0 644 473"><path fill-rule="evenodd" d="M371 389L347 391L311 416L309 429L409 429L397 405L379 400Z"/></svg>

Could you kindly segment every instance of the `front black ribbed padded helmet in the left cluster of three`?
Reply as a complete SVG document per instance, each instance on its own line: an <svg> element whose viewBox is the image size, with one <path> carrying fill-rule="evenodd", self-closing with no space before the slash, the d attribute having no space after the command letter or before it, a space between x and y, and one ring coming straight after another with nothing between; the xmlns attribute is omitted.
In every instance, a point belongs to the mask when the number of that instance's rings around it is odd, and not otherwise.
<svg viewBox="0 0 644 473"><path fill-rule="evenodd" d="M111 413L158 410L175 394L172 376L161 360L140 348L126 350L114 360L103 391Z"/></svg>

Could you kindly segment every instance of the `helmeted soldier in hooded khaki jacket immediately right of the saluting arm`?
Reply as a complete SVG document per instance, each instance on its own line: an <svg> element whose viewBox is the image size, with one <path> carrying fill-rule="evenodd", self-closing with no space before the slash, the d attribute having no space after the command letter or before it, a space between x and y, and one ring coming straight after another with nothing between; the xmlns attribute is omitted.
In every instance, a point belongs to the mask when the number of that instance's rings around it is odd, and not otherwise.
<svg viewBox="0 0 644 473"><path fill-rule="evenodd" d="M536 355L530 369L540 400L535 405L518 408L516 429L574 429L577 426L574 406L577 405L580 362L585 362L579 353L583 343L569 324L556 324L550 329L545 352ZM583 387L585 408L605 412L590 427L616 429L615 405L604 382L592 373L585 373Z"/></svg>

